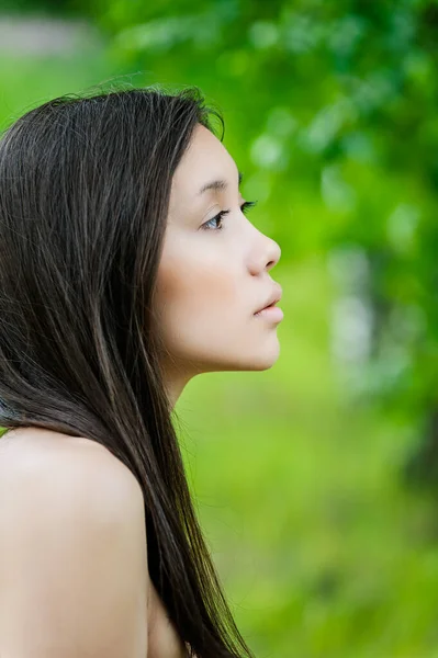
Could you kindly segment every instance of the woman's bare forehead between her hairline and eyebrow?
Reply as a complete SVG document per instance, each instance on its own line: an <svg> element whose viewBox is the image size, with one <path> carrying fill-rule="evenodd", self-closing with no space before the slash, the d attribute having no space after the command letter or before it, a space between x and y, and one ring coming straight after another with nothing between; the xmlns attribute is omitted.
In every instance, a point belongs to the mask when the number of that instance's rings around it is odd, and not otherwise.
<svg viewBox="0 0 438 658"><path fill-rule="evenodd" d="M175 171L172 195L196 202L203 183L214 179L225 179L231 189L234 188L238 181L237 167L222 141L207 128L198 125Z"/></svg>

